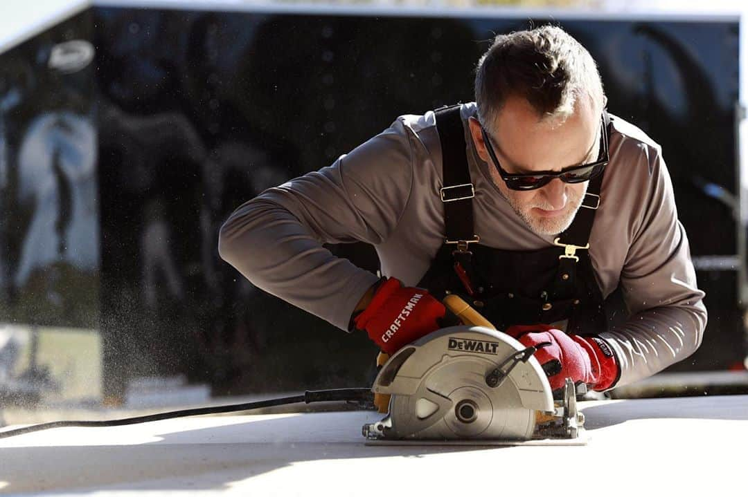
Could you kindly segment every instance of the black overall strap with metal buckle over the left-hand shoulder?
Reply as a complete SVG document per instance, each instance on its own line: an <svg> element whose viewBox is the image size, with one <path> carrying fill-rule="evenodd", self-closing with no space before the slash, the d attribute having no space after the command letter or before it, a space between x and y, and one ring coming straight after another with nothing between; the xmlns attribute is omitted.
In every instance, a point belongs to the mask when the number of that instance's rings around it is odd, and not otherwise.
<svg viewBox="0 0 748 497"><path fill-rule="evenodd" d="M479 242L473 232L473 197L475 188L470 180L466 154L465 129L460 116L461 105L435 110L441 142L441 171L444 186L439 191L444 202L444 227L447 239L458 251L468 251L468 244Z"/></svg>

